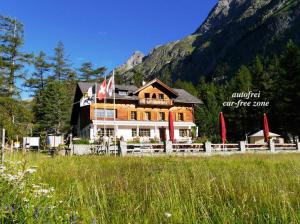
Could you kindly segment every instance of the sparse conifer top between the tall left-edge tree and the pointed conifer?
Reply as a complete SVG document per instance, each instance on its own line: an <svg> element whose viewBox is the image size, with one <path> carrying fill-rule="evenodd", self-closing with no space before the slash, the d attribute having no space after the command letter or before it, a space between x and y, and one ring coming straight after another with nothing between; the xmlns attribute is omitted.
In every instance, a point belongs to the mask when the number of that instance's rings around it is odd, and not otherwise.
<svg viewBox="0 0 300 224"><path fill-rule="evenodd" d="M32 88L35 91L43 90L52 65L47 62L46 54L43 51L34 58L33 64L35 70L32 73L31 78L26 81L25 86Z"/></svg>

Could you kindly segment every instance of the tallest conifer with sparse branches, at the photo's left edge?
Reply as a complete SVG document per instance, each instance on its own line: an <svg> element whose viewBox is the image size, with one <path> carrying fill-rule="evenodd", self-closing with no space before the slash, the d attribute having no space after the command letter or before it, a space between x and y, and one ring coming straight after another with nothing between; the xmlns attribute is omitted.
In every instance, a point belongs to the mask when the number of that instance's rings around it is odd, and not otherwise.
<svg viewBox="0 0 300 224"><path fill-rule="evenodd" d="M19 94L17 79L24 79L23 70L30 63L31 54L20 51L24 44L23 24L15 19L0 16L0 67L2 75L2 96L13 97Z"/></svg>

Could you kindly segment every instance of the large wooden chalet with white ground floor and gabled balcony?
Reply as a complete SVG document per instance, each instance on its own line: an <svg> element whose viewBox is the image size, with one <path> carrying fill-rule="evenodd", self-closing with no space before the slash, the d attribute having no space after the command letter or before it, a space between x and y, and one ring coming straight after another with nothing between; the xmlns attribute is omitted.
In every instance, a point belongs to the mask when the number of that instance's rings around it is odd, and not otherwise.
<svg viewBox="0 0 300 224"><path fill-rule="evenodd" d="M173 89L158 79L140 88L133 85L116 85L115 105L113 98L106 98L80 107L79 101L94 83L79 82L76 88L71 124L73 135L95 139L97 136L114 136L124 140L169 139L169 112L174 117L174 138L178 141L191 139L195 127L194 108L201 100L183 89ZM106 113L106 116L104 114ZM115 116L115 121L114 121Z"/></svg>

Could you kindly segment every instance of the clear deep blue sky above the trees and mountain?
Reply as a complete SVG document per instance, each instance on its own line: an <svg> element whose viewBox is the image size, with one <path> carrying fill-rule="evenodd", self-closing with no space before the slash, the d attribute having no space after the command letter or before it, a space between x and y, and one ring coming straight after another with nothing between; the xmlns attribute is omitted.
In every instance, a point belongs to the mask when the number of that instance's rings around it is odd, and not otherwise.
<svg viewBox="0 0 300 224"><path fill-rule="evenodd" d="M217 0L2 0L0 14L24 24L23 51L49 56L62 41L74 67L91 61L108 70L134 51L193 33ZM26 97L28 94L23 94Z"/></svg>

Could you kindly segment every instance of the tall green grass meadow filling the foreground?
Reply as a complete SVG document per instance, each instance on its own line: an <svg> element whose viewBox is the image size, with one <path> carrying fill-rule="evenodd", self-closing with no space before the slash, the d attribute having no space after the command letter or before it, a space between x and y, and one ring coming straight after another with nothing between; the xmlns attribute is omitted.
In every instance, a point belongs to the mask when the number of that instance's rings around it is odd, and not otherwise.
<svg viewBox="0 0 300 224"><path fill-rule="evenodd" d="M30 178L24 180L23 190L20 183L0 182L4 223L300 220L298 154L211 158L49 158L30 154L6 158L28 161L17 166Z"/></svg>

